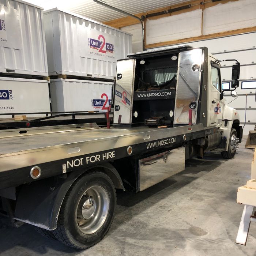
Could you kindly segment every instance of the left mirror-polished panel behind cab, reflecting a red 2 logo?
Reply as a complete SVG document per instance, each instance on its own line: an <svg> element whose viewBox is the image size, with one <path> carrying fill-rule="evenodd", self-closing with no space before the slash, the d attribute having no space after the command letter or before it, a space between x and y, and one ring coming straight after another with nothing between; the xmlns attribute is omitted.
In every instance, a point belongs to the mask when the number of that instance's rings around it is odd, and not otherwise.
<svg viewBox="0 0 256 256"><path fill-rule="evenodd" d="M135 59L117 61L114 124L131 124Z"/></svg>

